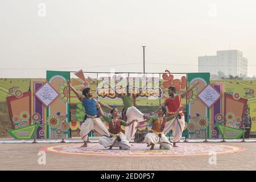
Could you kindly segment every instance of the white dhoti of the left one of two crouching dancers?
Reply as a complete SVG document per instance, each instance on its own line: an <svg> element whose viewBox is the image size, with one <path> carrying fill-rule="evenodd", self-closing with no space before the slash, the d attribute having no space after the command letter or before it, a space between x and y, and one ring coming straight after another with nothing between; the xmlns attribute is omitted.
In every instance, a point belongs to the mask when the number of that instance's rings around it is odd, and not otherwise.
<svg viewBox="0 0 256 182"><path fill-rule="evenodd" d="M102 136L98 140L98 143L100 143L105 148L113 146L113 147L121 147L122 150L129 150L131 147L131 144L128 142L125 135L123 133L120 133L119 137L121 139L120 142L117 140L117 137Z"/></svg>

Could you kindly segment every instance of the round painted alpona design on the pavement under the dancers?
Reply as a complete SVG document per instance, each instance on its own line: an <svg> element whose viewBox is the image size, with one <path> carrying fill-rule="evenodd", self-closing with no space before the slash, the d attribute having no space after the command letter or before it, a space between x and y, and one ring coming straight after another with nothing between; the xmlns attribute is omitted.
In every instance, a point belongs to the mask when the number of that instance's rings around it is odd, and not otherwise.
<svg viewBox="0 0 256 182"><path fill-rule="evenodd" d="M178 143L178 147L171 150L159 149L159 144L155 145L155 150L149 150L146 143L132 143L131 150L119 150L113 147L112 150L104 148L98 143L88 143L88 147L82 148L82 144L56 144L40 148L40 151L53 152L55 154L66 155L94 155L94 156L193 156L209 154L229 154L245 150L237 146L209 143Z"/></svg>

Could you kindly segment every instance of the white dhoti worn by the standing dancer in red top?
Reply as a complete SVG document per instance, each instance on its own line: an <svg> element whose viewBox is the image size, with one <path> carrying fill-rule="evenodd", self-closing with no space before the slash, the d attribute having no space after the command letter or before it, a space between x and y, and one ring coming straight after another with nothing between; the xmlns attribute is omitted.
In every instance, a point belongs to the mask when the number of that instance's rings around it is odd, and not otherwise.
<svg viewBox="0 0 256 182"><path fill-rule="evenodd" d="M179 142L182 137L182 132L185 127L184 116L181 116L181 119L178 117L172 119L171 121L166 122L164 127L164 134L166 135L168 131L172 130L172 135L174 136L173 142Z"/></svg>

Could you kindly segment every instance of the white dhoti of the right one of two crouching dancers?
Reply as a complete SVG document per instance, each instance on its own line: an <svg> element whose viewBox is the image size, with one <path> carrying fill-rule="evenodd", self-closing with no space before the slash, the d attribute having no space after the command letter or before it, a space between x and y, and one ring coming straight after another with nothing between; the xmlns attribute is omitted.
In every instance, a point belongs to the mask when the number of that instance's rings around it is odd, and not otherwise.
<svg viewBox="0 0 256 182"><path fill-rule="evenodd" d="M155 133L148 133L144 138L144 142L146 142L147 144L151 144L151 143L160 144L166 150L170 150L172 147L172 144L164 134L162 134L162 137L160 138Z"/></svg>

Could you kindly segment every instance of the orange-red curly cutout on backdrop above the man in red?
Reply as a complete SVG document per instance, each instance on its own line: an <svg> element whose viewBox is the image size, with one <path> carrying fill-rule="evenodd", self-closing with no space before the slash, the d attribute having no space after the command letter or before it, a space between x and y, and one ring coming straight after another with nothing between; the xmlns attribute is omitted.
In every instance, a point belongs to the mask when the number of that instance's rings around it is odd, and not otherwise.
<svg viewBox="0 0 256 182"><path fill-rule="evenodd" d="M164 88L168 88L169 86L175 86L176 92L180 92L180 89L185 89L187 80L186 77L181 77L181 81L179 79L174 79L174 76L171 75L171 72L166 70L162 75L162 78L165 80L163 82Z"/></svg>

